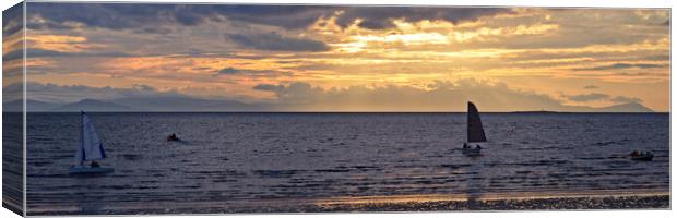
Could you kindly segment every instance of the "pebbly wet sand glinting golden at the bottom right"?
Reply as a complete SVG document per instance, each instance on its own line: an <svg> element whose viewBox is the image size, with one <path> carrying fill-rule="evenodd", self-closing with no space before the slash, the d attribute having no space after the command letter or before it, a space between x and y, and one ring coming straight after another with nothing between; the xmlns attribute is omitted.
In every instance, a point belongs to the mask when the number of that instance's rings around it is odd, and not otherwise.
<svg viewBox="0 0 677 218"><path fill-rule="evenodd" d="M440 211L669 208L669 191L553 191L334 198L324 211Z"/></svg>

